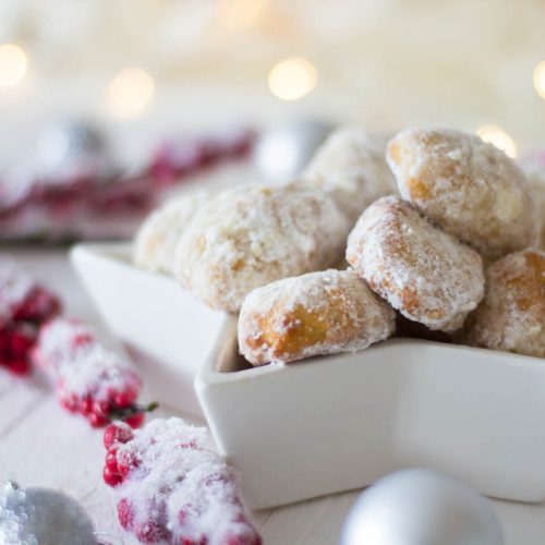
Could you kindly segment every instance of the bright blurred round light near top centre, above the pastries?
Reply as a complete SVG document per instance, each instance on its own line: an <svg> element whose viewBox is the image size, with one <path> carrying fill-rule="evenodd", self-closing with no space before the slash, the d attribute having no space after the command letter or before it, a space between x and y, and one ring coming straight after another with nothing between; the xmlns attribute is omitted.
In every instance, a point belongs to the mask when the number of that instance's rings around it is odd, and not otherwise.
<svg viewBox="0 0 545 545"><path fill-rule="evenodd" d="M282 100L298 100L316 86L318 75L313 63L301 57L284 59L269 72L269 88Z"/></svg>

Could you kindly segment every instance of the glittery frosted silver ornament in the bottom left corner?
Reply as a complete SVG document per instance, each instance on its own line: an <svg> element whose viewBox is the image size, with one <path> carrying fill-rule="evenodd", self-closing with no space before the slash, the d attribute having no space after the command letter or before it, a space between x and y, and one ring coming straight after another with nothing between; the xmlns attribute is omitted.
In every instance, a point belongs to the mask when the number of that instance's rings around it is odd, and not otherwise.
<svg viewBox="0 0 545 545"><path fill-rule="evenodd" d="M3 545L97 545L92 520L65 494L48 488L0 487Z"/></svg>

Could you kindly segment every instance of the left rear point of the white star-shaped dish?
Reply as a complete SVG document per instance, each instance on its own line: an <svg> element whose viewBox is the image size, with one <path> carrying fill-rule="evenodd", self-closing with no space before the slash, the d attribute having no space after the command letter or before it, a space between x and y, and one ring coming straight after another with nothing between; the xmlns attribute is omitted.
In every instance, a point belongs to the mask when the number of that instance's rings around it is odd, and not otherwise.
<svg viewBox="0 0 545 545"><path fill-rule="evenodd" d="M196 301L172 278L134 267L130 243L80 244L71 257L106 325L135 356L152 393L202 417L193 379L227 315Z"/></svg>

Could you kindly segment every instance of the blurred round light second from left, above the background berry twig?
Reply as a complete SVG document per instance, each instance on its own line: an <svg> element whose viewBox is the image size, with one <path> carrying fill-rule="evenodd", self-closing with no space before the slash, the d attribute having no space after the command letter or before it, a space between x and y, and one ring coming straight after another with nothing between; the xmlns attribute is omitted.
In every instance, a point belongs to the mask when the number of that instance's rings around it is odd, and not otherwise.
<svg viewBox="0 0 545 545"><path fill-rule="evenodd" d="M111 109L124 117L138 114L154 96L154 81L141 69L125 69L116 74L108 87Z"/></svg>

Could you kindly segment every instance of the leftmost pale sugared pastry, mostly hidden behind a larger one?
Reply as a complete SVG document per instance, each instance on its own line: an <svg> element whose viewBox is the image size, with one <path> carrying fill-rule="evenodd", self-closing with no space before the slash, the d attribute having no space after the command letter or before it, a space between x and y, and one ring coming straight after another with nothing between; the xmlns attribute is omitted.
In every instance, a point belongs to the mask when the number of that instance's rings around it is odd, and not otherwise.
<svg viewBox="0 0 545 545"><path fill-rule="evenodd" d="M174 252L180 237L187 229L201 206L210 199L208 192L198 192L168 201L142 223L134 241L133 262L147 270L172 272Z"/></svg>

